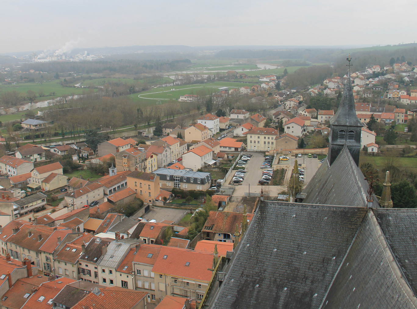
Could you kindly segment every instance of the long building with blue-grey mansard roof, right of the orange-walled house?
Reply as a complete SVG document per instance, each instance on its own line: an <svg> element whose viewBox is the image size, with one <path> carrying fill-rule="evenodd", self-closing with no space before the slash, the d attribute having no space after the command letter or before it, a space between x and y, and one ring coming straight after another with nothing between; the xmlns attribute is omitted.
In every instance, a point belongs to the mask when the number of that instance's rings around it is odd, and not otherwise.
<svg viewBox="0 0 417 309"><path fill-rule="evenodd" d="M204 191L211 187L210 173L160 168L154 174L159 177L161 188L166 190L182 188L183 190Z"/></svg>

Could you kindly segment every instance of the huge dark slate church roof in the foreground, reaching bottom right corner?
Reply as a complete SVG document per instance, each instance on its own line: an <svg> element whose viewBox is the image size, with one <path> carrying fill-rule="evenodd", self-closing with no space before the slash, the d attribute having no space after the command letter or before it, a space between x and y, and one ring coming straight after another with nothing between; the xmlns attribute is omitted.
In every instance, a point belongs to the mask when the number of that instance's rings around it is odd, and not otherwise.
<svg viewBox="0 0 417 309"><path fill-rule="evenodd" d="M417 210L266 201L209 307L416 308L415 221Z"/></svg>

